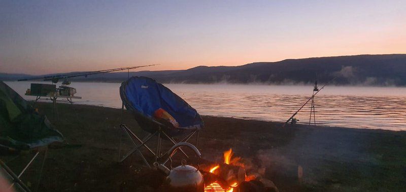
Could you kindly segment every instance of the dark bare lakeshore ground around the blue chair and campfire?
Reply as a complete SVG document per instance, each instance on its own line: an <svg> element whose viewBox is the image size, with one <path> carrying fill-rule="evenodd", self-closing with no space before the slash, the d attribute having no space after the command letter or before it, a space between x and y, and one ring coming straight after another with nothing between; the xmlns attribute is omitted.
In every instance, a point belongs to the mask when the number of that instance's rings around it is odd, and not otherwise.
<svg viewBox="0 0 406 192"><path fill-rule="evenodd" d="M40 112L63 134L66 144L50 147L23 175L38 191L155 191L163 175L147 168L137 154L118 163L119 147L131 148L119 127L125 123L145 134L131 114L121 109L50 103ZM232 148L242 157L247 175L272 180L280 191L405 191L406 132L346 129L204 116L198 149L202 158L223 161ZM152 144L153 142L151 142ZM166 146L168 147L168 146ZM123 154L124 152L121 152ZM9 164L22 169L32 154ZM298 177L302 169L302 177ZM42 170L42 172L41 172ZM42 176L41 182L38 182Z"/></svg>

